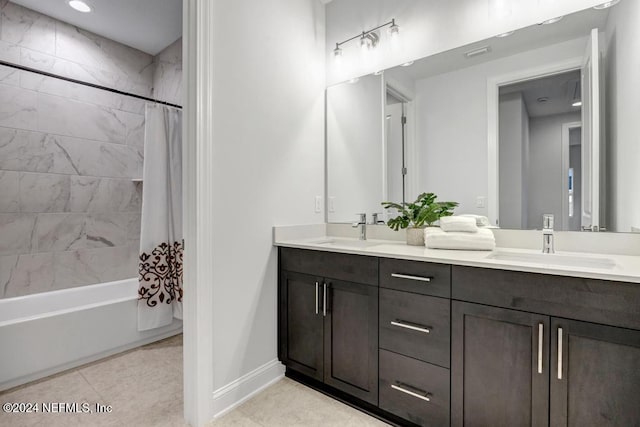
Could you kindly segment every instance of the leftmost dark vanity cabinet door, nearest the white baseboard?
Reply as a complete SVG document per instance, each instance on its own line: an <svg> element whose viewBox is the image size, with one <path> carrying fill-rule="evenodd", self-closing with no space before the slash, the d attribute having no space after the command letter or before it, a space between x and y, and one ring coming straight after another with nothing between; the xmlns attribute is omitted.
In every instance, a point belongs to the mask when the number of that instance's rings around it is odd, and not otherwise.
<svg viewBox="0 0 640 427"><path fill-rule="evenodd" d="M322 381L322 280L282 272L280 278L280 359L291 369Z"/></svg>

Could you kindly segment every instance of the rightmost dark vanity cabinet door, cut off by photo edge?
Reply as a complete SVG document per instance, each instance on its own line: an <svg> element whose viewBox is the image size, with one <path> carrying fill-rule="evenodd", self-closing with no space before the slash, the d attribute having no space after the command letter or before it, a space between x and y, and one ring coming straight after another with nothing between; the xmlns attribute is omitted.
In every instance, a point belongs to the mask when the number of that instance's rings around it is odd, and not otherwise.
<svg viewBox="0 0 640 427"><path fill-rule="evenodd" d="M553 318L551 425L640 426L640 331Z"/></svg>

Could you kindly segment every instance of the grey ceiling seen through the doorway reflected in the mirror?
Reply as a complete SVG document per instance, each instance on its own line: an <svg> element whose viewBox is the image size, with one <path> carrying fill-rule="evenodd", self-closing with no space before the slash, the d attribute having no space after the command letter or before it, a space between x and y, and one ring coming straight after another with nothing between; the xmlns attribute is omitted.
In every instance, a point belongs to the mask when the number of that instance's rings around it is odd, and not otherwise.
<svg viewBox="0 0 640 427"><path fill-rule="evenodd" d="M580 70L500 88L500 96L516 92L522 93L529 117L579 113L580 107L571 104L580 99Z"/></svg>

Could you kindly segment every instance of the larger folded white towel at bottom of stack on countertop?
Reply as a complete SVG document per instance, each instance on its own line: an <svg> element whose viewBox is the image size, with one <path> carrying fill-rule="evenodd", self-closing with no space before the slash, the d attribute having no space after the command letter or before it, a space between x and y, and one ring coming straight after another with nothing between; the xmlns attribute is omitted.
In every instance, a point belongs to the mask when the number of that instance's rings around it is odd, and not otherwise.
<svg viewBox="0 0 640 427"><path fill-rule="evenodd" d="M459 249L465 251L492 251L496 247L493 232L486 228L477 233L443 231L439 227L424 229L425 246L430 249Z"/></svg>

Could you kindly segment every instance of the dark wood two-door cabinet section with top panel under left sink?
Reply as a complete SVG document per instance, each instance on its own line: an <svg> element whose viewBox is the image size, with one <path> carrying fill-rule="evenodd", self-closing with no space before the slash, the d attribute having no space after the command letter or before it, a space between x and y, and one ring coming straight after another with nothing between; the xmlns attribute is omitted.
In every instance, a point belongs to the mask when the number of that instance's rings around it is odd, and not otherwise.
<svg viewBox="0 0 640 427"><path fill-rule="evenodd" d="M377 259L338 259L340 254L292 249L280 255L280 360L289 369L377 405L378 287L370 284L372 277L377 283ZM283 265L295 271L283 270ZM319 275L296 272L305 268ZM359 269L369 284L328 276L357 278Z"/></svg>

